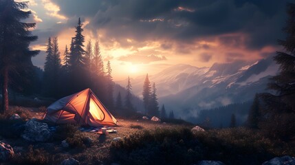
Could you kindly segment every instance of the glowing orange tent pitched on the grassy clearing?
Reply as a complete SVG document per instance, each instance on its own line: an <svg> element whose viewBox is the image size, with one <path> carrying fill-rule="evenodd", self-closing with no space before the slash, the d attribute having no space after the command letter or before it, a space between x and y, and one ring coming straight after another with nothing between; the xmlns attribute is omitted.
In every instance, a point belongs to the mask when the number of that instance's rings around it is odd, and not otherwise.
<svg viewBox="0 0 295 165"><path fill-rule="evenodd" d="M89 126L117 125L116 118L89 88L51 104L47 107L43 120Z"/></svg>

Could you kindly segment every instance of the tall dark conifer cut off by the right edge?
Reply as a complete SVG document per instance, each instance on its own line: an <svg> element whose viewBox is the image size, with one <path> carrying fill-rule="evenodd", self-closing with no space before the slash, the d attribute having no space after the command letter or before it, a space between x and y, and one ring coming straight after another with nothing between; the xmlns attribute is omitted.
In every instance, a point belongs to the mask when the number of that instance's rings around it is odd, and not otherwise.
<svg viewBox="0 0 295 165"><path fill-rule="evenodd" d="M295 136L295 4L287 3L285 40L278 40L284 48L276 52L274 61L280 65L279 74L272 77L268 85L275 94L261 94L261 129L272 137L289 140ZM292 131L290 131L292 130Z"/></svg>

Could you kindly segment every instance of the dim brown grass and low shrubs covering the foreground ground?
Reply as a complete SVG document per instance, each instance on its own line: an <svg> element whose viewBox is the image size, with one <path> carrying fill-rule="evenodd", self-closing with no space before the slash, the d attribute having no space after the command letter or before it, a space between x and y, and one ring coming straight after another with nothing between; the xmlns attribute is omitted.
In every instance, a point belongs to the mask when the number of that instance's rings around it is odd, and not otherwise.
<svg viewBox="0 0 295 165"><path fill-rule="evenodd" d="M244 128L192 133L194 125L182 120L151 122L118 119L118 133L99 135L79 131L73 124L60 124L48 142L26 142L21 138L25 120L41 118L41 108L10 107L0 115L0 140L16 150L7 164L61 164L74 157L80 164L196 164L202 159L225 164L261 164L276 156L295 156L295 143L269 139L260 131ZM8 120L13 113L22 120ZM38 115L37 115L38 113ZM87 140L91 138L91 143ZM122 140L114 141L113 138ZM68 148L61 146L67 140Z"/></svg>

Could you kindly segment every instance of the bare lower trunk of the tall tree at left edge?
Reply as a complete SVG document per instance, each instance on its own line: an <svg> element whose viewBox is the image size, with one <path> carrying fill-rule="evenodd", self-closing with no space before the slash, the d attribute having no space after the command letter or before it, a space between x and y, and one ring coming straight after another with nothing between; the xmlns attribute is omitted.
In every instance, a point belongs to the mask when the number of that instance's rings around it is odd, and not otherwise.
<svg viewBox="0 0 295 165"><path fill-rule="evenodd" d="M2 107L1 113L8 111L8 68L3 68Z"/></svg>

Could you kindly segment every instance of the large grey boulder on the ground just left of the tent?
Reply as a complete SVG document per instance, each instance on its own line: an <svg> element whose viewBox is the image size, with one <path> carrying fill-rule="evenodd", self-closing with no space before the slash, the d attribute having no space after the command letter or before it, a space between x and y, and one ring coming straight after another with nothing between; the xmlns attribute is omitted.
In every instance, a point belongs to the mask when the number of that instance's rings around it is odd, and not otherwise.
<svg viewBox="0 0 295 165"><path fill-rule="evenodd" d="M45 142L50 139L51 133L46 123L31 119L25 123L25 131L21 137L31 142Z"/></svg>

